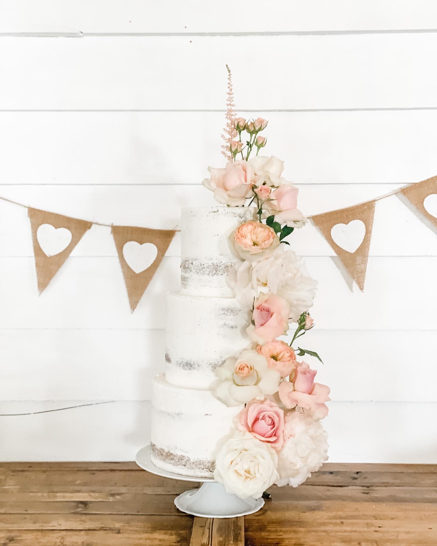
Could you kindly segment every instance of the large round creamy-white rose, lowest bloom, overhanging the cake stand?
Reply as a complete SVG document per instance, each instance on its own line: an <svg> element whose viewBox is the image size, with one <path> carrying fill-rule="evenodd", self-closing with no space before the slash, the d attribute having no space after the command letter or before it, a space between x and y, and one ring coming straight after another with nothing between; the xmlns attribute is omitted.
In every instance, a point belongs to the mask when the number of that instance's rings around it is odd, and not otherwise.
<svg viewBox="0 0 437 546"><path fill-rule="evenodd" d="M214 479L228 493L241 498L259 498L278 478L275 450L253 438L239 434L222 446L215 460Z"/></svg>

